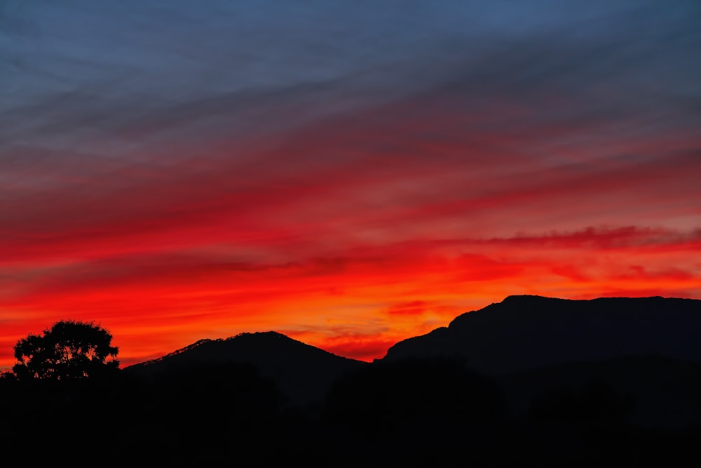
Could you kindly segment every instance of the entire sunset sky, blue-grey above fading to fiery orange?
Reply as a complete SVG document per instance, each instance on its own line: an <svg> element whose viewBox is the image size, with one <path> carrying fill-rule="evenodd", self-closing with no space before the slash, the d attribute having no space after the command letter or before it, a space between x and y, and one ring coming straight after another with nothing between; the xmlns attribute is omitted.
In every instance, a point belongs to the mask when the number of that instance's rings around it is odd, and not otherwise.
<svg viewBox="0 0 701 468"><path fill-rule="evenodd" d="M3 0L0 368L701 299L701 4Z"/></svg>

